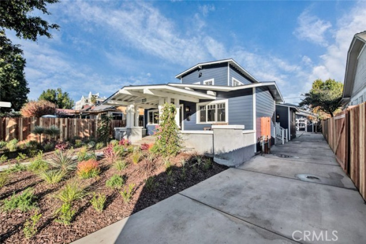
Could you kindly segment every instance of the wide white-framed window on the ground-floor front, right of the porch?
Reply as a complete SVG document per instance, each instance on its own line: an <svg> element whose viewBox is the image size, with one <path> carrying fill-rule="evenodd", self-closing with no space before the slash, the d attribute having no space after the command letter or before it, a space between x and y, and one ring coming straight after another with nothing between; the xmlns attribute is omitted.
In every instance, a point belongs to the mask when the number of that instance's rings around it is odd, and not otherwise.
<svg viewBox="0 0 366 244"><path fill-rule="evenodd" d="M227 100L197 104L197 123L227 122Z"/></svg>

